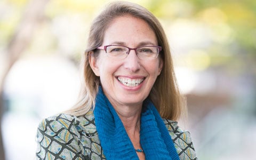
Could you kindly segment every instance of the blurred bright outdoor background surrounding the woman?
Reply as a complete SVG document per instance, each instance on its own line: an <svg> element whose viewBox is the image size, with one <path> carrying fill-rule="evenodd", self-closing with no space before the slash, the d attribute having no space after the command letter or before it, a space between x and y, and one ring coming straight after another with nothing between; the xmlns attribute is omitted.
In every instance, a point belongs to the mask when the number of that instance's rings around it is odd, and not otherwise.
<svg viewBox="0 0 256 160"><path fill-rule="evenodd" d="M88 30L108 2L0 1L0 159L35 159L38 123L75 103ZM256 159L256 1L130 2L166 31L198 159Z"/></svg>

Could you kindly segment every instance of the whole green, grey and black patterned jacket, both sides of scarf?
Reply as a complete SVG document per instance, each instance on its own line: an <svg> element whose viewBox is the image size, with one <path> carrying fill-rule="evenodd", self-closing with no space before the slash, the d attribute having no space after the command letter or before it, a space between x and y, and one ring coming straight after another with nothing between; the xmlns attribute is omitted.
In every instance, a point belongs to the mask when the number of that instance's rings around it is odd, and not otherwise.
<svg viewBox="0 0 256 160"><path fill-rule="evenodd" d="M163 119L181 160L197 159L189 132ZM106 159L89 111L84 116L59 114L39 123L36 135L36 159Z"/></svg>

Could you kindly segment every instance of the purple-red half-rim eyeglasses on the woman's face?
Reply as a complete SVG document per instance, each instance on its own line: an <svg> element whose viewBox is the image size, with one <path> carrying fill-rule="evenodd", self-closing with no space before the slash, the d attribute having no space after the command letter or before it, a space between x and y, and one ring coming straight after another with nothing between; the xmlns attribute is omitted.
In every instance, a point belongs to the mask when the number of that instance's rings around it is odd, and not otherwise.
<svg viewBox="0 0 256 160"><path fill-rule="evenodd" d="M162 50L161 46L140 46L134 49L123 45L105 45L97 47L98 50L105 50L107 55L115 59L125 59L131 50L134 50L141 60L150 60L157 58L159 52Z"/></svg>

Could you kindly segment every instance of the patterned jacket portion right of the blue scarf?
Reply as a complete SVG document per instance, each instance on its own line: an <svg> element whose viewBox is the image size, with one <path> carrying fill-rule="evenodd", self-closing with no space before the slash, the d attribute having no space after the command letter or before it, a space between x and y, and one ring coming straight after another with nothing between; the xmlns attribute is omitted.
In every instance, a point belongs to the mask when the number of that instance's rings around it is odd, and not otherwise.
<svg viewBox="0 0 256 160"><path fill-rule="evenodd" d="M190 133L181 130L175 121L163 119L163 122L171 135L180 159L197 159Z"/></svg>

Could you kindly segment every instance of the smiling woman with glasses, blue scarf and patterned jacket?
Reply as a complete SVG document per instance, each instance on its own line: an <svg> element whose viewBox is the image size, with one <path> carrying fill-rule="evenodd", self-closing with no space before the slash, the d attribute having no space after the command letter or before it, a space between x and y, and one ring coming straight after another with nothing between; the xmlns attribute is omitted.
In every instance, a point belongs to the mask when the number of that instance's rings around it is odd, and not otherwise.
<svg viewBox="0 0 256 160"><path fill-rule="evenodd" d="M39 124L37 159L197 159L174 122L185 103L153 14L109 4L92 23L83 69L77 105Z"/></svg>

